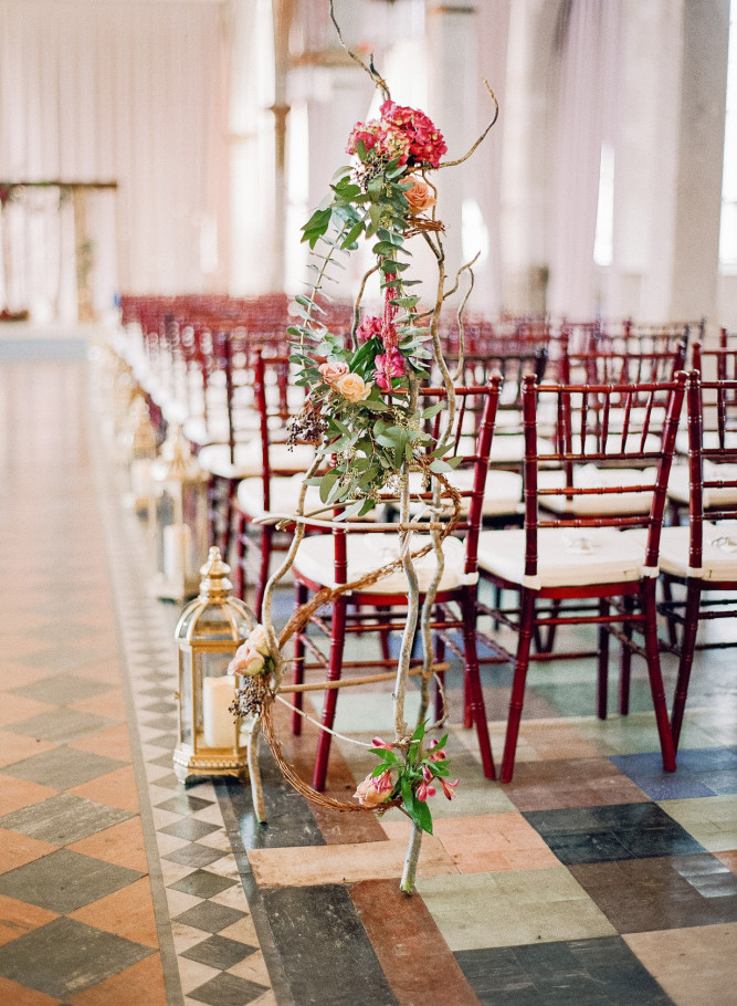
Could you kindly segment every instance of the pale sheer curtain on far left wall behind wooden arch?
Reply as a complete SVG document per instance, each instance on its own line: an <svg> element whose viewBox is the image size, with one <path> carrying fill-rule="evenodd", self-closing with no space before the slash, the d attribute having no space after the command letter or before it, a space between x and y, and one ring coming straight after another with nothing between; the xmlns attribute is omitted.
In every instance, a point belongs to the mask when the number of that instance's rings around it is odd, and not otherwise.
<svg viewBox="0 0 737 1006"><path fill-rule="evenodd" d="M0 0L0 179L117 182L88 198L98 307L227 285L228 8ZM67 314L69 214L31 191L2 214L0 305Z"/></svg>

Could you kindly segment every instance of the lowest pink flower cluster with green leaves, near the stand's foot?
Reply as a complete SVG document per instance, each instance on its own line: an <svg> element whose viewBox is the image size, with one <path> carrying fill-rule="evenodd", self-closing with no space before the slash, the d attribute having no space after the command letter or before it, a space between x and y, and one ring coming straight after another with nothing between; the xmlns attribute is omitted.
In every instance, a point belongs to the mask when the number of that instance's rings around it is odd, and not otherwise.
<svg viewBox="0 0 737 1006"><path fill-rule="evenodd" d="M459 780L448 779L449 758L444 745L448 734L440 741L433 741L427 754L423 753L427 721L422 722L412 734L409 750L404 757L394 753L392 744L381 737L373 737L371 753L381 758L372 773L359 783L354 796L364 807L381 810L385 804L401 800L404 813L423 831L432 835L432 814L428 799L435 795L433 782L438 780L449 800L455 796Z"/></svg>

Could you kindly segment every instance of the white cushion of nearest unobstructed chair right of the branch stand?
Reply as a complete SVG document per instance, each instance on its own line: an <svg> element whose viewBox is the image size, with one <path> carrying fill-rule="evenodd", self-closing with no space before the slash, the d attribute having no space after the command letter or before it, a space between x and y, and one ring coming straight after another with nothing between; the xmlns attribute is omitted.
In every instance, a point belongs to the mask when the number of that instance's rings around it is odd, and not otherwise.
<svg viewBox="0 0 737 1006"><path fill-rule="evenodd" d="M525 575L525 531L483 531L480 569L539 590L638 580L644 549L611 527L543 527L537 534L537 576Z"/></svg>

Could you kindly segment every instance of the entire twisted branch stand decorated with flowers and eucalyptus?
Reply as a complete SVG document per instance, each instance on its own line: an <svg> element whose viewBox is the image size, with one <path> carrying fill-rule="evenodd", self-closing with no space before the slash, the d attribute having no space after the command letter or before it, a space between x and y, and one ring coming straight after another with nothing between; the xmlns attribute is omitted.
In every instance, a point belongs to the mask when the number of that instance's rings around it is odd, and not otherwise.
<svg viewBox="0 0 737 1006"><path fill-rule="evenodd" d="M383 101L378 118L356 123L350 130L346 150L352 160L335 172L329 195L303 228L303 241L309 245L312 254L308 265L312 275L306 293L295 298L295 321L287 334L292 347L289 360L296 371L295 384L307 388L308 396L304 408L289 425L287 440L314 443L316 458L304 480L296 513L288 515L288 522L278 514L269 518L277 525L294 525L295 531L282 566L266 585L263 626L254 628L231 663L233 672L245 677L245 684L239 689L232 709L240 715L254 715L254 722L263 726L283 776L309 799L336 810L381 814L394 806L411 819L412 834L400 882L400 890L409 894L414 889L422 834L432 832L428 800L435 795L438 784L448 799L454 797L457 786L457 779L451 782L449 777L449 758L444 751L448 735L425 746L425 732L442 725L442 720L429 724L427 719L434 671L432 611L444 560L442 544L451 533L454 520L430 524L415 520L410 512L409 475L418 470L423 472L423 485L432 489L433 504L440 512L443 493L453 493L443 473L453 467L446 455L453 450L451 430L455 410L454 379L443 358L439 335L440 315L443 304L459 291L465 275L470 281L468 291L456 312L462 355L462 313L473 287L473 261L461 265L455 282L449 282L442 244L444 228L436 217L438 192L430 176L441 168L462 164L473 154L496 122L498 104L486 84L495 105L493 119L463 157L441 161L446 153L441 132L420 109L398 105L391 99L372 57L367 65L345 46L334 13L334 0L329 0L329 4L340 43L369 74ZM408 274L411 252L407 243L415 235L429 247L438 265L436 286L427 298L430 305L427 307L420 306L417 291L420 281ZM325 305L330 301L325 287L328 282L336 281L335 271L344 268L343 260L358 248L359 240L370 242L372 265L360 281L350 333L341 335L331 332L324 321L328 317ZM371 276L378 279L381 293L381 306L373 312L364 306ZM430 377L431 364L440 374L445 394L436 405L419 409L419 388L422 380ZM432 425L438 430L430 433L428 420L443 409L446 415L439 416L439 422ZM308 485L319 486L324 507L336 514L331 521L316 520L315 513L305 514ZM291 568L306 525L330 526L334 521L360 518L386 491L396 493L399 500L400 520L392 525L399 535L399 557L351 583L323 588L293 612L277 637L271 619L273 590ZM427 534L429 541L419 551L411 547L415 531ZM414 559L430 549L436 558L435 575L421 599ZM399 566L407 576L408 604L392 692L394 742L388 744L375 737L370 750L380 761L359 784L355 793L357 803L337 799L308 787L283 756L271 714L272 700L281 698L278 692L289 691L288 687L281 685L282 648L306 626L319 607L341 594L360 589L367 581L372 583ZM423 657L420 710L413 730L404 720L404 700L415 633L421 636ZM255 748L255 742L252 748ZM254 806L261 814L257 819L264 820L255 757L253 765L249 762L249 769Z"/></svg>

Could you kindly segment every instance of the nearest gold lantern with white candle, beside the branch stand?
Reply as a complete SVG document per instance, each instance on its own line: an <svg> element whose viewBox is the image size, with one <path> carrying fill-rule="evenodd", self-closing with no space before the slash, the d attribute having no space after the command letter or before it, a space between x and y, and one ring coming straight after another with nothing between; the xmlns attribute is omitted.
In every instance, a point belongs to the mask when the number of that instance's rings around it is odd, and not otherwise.
<svg viewBox="0 0 737 1006"><path fill-rule="evenodd" d="M228 664L251 632L253 619L245 604L232 597L230 566L219 548L210 549L200 573L199 596L181 612L175 631L179 738L173 771L180 783L188 776L239 776L248 767L249 725L230 710L236 682Z"/></svg>

